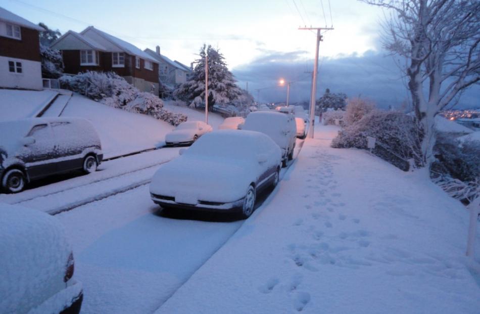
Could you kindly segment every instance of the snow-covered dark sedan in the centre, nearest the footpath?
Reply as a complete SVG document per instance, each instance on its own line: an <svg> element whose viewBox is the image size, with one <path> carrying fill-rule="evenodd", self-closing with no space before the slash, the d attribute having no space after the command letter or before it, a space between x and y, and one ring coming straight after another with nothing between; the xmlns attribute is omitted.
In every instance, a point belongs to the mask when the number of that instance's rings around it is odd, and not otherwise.
<svg viewBox="0 0 480 314"><path fill-rule="evenodd" d="M150 184L164 208L239 211L248 217L256 195L278 183L281 152L260 132L219 130L162 165Z"/></svg>

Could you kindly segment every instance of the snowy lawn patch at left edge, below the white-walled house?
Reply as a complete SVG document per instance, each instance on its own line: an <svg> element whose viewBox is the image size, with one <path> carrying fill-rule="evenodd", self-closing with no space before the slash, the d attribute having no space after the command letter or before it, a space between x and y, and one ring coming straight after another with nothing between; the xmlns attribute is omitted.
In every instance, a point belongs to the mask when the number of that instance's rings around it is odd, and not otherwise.
<svg viewBox="0 0 480 314"><path fill-rule="evenodd" d="M54 97L57 92L20 91L17 89L0 89L0 121L35 117Z"/></svg>

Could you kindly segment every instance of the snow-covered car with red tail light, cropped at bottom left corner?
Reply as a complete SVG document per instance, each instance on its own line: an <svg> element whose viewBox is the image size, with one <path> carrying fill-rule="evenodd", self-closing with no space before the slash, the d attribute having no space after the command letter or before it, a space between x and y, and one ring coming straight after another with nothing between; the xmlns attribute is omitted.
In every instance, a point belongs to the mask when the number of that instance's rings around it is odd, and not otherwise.
<svg viewBox="0 0 480 314"><path fill-rule="evenodd" d="M80 312L70 245L58 219L0 204L0 313Z"/></svg>

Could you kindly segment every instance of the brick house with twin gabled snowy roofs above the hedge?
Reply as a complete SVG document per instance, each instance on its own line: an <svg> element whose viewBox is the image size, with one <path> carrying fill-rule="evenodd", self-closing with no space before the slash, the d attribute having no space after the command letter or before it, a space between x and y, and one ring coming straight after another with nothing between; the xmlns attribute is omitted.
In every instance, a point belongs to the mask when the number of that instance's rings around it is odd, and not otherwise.
<svg viewBox="0 0 480 314"><path fill-rule="evenodd" d="M64 73L115 72L140 89L158 95L158 61L133 44L89 26L69 30L50 46L60 50Z"/></svg>

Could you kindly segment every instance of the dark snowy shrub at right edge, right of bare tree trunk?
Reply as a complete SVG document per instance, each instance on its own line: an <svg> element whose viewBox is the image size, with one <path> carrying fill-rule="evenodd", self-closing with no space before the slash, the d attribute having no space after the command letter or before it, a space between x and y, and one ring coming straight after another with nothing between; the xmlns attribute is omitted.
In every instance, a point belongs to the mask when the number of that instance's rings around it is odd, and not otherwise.
<svg viewBox="0 0 480 314"><path fill-rule="evenodd" d="M480 196L480 143L460 143L449 134L438 134L431 164L433 181L450 196L468 203Z"/></svg>

